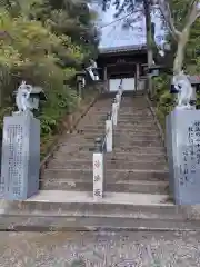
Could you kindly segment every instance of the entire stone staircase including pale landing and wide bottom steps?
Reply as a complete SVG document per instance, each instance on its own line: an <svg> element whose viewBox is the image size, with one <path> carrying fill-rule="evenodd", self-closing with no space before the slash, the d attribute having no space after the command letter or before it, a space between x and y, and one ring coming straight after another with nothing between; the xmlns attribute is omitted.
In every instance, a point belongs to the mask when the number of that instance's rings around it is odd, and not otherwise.
<svg viewBox="0 0 200 267"><path fill-rule="evenodd" d="M92 198L94 139L104 134L113 96L101 97L66 134L40 177L40 194L4 202L0 227L18 229L194 229L169 197L166 151L144 96L123 96L114 150L104 155L104 197Z"/></svg>

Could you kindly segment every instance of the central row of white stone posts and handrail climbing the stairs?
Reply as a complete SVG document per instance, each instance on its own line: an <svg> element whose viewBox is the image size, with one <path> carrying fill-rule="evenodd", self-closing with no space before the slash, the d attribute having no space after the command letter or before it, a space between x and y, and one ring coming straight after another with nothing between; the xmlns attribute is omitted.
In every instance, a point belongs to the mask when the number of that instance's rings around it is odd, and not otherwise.
<svg viewBox="0 0 200 267"><path fill-rule="evenodd" d="M103 179L104 167L103 156L104 152L112 152L113 149L113 130L118 125L118 113L123 93L122 79L120 81L116 98L113 99L111 112L107 115L106 132L103 138L97 138L93 152L93 198L96 200L103 197Z"/></svg>

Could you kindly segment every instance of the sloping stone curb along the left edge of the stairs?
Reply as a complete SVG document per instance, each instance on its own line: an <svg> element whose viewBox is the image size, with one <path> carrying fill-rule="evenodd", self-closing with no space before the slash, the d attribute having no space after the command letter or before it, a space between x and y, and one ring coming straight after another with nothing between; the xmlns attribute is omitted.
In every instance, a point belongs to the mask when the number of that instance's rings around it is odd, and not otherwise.
<svg viewBox="0 0 200 267"><path fill-rule="evenodd" d="M81 113L78 115L78 118L76 118L74 122L72 123L72 126L70 126L70 128L68 129L69 131L72 131L78 123L80 122L80 120L88 113L89 109L94 105L94 102L99 99L99 93L97 93L97 96L89 102L89 105L87 105L87 107L83 109L83 111ZM53 155L53 152L57 150L57 147L59 145L59 140L63 135L64 129L62 129L61 134L56 137L53 144L50 146L49 152L48 155L44 157L44 159L40 162L40 174L41 171L46 168L49 159L51 158L51 156Z"/></svg>

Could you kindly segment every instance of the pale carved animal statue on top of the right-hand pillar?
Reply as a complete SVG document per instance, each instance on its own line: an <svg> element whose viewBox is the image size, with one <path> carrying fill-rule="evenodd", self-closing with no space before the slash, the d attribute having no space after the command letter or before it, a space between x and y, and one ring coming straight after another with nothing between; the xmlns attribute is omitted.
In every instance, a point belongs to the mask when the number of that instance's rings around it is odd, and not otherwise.
<svg viewBox="0 0 200 267"><path fill-rule="evenodd" d="M178 91L177 109L193 109L191 100L193 96L192 86L187 75L181 71L179 75L173 76L173 85Z"/></svg>

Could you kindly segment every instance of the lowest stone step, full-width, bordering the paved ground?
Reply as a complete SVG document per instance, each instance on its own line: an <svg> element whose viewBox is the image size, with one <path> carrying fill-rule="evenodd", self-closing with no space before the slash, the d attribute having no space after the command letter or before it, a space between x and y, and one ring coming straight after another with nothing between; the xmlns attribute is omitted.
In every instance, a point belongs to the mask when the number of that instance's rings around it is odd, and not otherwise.
<svg viewBox="0 0 200 267"><path fill-rule="evenodd" d="M3 219L3 218L2 218ZM68 221L69 219L69 221ZM80 219L80 220L79 220ZM86 222L87 218L79 218L77 220L76 217L66 218L66 222L61 225L51 224L48 226L47 224L40 224L40 225L31 225L26 222L11 222L10 225L6 221L2 221L0 224L0 233L1 231L34 231L34 233L53 233L53 231L199 231L200 227L197 224L197 221L169 221L159 219L157 222L154 222L151 219L134 219L134 220L128 220L126 221L123 218L120 218L120 220L123 220L123 224L113 224L116 221L116 218L112 218L113 220L107 221L106 218L106 225L102 225L101 221L97 221L97 218L94 218L94 222L88 221ZM56 220L59 220L59 218L56 218ZM104 220L104 219L103 219Z"/></svg>

